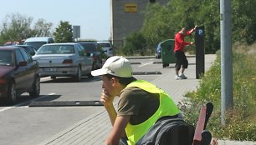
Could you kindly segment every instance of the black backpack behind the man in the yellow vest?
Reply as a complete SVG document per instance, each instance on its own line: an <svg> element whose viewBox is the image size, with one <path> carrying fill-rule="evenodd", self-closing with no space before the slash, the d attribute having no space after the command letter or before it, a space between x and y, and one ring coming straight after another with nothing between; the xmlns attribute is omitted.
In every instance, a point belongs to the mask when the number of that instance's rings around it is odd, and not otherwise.
<svg viewBox="0 0 256 145"><path fill-rule="evenodd" d="M141 145L191 145L195 128L182 118L161 117L142 138Z"/></svg>

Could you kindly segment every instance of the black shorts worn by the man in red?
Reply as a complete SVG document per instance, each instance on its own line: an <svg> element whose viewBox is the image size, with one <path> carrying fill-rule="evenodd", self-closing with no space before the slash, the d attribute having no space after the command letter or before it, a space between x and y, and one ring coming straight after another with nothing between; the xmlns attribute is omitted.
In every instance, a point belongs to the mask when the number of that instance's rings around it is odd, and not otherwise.
<svg viewBox="0 0 256 145"><path fill-rule="evenodd" d="M177 51L177 52L174 52L174 54L177 59L176 64L175 64L176 70L179 71L181 69L181 67L187 68L188 62L187 62L187 57L186 57L185 53L182 51Z"/></svg>

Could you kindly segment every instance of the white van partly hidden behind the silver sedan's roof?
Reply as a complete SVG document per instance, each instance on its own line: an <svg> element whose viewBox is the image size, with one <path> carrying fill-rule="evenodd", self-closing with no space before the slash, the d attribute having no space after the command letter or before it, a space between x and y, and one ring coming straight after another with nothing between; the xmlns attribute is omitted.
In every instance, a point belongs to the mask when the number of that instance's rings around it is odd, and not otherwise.
<svg viewBox="0 0 256 145"><path fill-rule="evenodd" d="M53 37L29 37L24 42L24 45L32 45L33 47L36 47L36 49L38 50L39 47L48 43L54 43L54 38Z"/></svg>

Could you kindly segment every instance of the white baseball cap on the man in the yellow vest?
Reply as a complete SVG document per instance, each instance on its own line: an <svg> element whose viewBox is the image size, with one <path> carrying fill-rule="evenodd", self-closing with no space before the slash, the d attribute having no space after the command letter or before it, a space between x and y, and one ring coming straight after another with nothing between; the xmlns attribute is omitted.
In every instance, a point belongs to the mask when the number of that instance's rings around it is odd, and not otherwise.
<svg viewBox="0 0 256 145"><path fill-rule="evenodd" d="M132 77L131 63L120 56L109 57L102 68L91 72L93 76L110 74L116 77Z"/></svg>

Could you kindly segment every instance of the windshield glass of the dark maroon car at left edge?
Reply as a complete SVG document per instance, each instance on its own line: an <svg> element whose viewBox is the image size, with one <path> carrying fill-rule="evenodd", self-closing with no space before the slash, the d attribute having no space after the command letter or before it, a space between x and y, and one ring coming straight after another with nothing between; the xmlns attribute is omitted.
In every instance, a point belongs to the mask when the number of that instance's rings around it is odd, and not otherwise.
<svg viewBox="0 0 256 145"><path fill-rule="evenodd" d="M13 51L12 50L0 50L0 65L1 66L13 66Z"/></svg>

